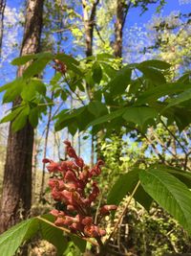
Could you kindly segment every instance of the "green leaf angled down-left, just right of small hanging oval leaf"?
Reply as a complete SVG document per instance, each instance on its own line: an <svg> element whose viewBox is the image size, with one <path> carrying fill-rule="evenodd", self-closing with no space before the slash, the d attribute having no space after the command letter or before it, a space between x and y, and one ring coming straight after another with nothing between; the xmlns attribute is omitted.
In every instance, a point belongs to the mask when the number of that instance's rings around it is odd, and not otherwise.
<svg viewBox="0 0 191 256"><path fill-rule="evenodd" d="M132 70L128 66L125 66L117 71L114 79L112 79L107 85L107 87L111 90L112 95L124 93L131 80L131 74Z"/></svg>

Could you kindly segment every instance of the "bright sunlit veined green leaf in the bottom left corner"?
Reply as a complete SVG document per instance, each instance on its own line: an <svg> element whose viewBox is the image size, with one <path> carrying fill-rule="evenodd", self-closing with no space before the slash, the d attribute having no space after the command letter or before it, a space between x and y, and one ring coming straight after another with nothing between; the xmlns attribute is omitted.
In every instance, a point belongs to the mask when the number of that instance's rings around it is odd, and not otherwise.
<svg viewBox="0 0 191 256"><path fill-rule="evenodd" d="M0 255L13 256L18 247L38 231L38 221L32 218L11 227L0 236Z"/></svg>

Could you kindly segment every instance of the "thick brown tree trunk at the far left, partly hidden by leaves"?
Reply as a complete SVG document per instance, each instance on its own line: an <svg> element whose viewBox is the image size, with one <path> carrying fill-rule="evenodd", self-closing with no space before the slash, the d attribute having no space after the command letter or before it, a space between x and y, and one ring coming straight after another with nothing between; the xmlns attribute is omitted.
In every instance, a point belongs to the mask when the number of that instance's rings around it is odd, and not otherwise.
<svg viewBox="0 0 191 256"><path fill-rule="evenodd" d="M25 31L20 56L39 51L42 30L43 0L28 0ZM18 69L22 76L26 66ZM19 105L21 99L13 102ZM7 159L0 208L0 233L30 214L32 201L32 146L33 128L28 122L24 128L9 131Z"/></svg>

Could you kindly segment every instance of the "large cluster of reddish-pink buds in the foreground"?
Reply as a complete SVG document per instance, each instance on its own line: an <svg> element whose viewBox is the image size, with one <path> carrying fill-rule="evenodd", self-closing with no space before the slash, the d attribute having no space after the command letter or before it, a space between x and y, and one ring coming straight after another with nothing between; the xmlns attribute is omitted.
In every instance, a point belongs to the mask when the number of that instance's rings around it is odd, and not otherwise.
<svg viewBox="0 0 191 256"><path fill-rule="evenodd" d="M99 160L92 169L84 164L81 157L78 157L69 141L64 141L66 151L72 160L53 162L50 159L43 159L49 163L47 169L53 174L49 180L52 197L55 201L61 202L66 210L54 209L51 214L55 217L54 224L68 227L72 232L82 237L101 237L105 230L99 227L102 217L109 215L111 210L116 210L116 205L104 205L98 209L95 217L93 204L99 194L99 188L94 176L100 175L103 161ZM88 186L91 189L87 188ZM96 219L96 220L95 220Z"/></svg>

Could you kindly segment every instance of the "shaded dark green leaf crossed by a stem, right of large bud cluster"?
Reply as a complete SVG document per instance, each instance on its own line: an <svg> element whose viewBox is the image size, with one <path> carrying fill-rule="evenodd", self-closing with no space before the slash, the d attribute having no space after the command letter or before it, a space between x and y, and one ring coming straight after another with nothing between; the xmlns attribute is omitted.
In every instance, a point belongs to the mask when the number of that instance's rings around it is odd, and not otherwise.
<svg viewBox="0 0 191 256"><path fill-rule="evenodd" d="M120 175L108 195L107 203L118 205L122 198L124 198L128 193L131 194L136 185L138 184L139 172L140 170L135 168L133 171L130 171L125 175ZM149 210L152 198L150 198L149 195L143 190L142 186L139 185L134 198L146 210Z"/></svg>

